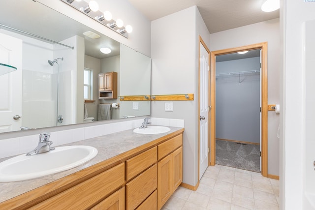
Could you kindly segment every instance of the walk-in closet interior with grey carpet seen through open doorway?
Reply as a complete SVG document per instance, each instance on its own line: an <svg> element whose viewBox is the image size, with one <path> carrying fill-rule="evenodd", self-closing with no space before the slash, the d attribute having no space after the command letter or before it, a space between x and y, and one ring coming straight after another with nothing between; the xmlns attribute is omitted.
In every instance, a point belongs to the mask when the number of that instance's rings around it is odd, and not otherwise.
<svg viewBox="0 0 315 210"><path fill-rule="evenodd" d="M260 172L260 50L216 57L216 164Z"/></svg>

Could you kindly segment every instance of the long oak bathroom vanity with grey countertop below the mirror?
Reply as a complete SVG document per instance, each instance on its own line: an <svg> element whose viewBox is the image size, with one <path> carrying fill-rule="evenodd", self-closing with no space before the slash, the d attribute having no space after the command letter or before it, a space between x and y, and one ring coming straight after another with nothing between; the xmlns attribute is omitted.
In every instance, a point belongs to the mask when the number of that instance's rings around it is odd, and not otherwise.
<svg viewBox="0 0 315 210"><path fill-rule="evenodd" d="M69 144L93 146L98 154L63 173L2 182L0 191L15 188L18 194L0 209L159 210L182 182L183 132L178 127L154 135L126 130Z"/></svg>

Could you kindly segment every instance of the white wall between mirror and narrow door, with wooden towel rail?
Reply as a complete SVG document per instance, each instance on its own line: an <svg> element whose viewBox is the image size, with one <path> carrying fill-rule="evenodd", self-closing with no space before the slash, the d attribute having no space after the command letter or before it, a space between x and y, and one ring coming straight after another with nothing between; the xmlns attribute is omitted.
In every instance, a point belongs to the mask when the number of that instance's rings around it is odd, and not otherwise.
<svg viewBox="0 0 315 210"><path fill-rule="evenodd" d="M185 120L183 182L198 181L198 35L209 32L196 6L152 21L152 94L194 93L193 101L152 101L152 117ZM165 112L165 102L173 112Z"/></svg>

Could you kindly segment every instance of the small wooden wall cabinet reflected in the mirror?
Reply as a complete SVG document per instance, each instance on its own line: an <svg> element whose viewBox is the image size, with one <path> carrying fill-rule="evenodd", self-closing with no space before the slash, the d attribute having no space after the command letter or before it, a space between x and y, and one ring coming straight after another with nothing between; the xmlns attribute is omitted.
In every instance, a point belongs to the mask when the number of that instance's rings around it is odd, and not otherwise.
<svg viewBox="0 0 315 210"><path fill-rule="evenodd" d="M98 74L98 98L117 98L117 72Z"/></svg>

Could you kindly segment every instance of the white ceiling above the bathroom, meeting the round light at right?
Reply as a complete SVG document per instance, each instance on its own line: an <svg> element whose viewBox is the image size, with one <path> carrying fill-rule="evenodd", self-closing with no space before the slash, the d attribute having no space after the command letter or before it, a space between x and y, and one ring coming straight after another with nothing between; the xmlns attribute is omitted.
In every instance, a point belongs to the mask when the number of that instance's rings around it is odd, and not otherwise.
<svg viewBox="0 0 315 210"><path fill-rule="evenodd" d="M274 12L261 11L264 0L128 1L151 21L196 5L210 33L279 18L279 9Z"/></svg>

